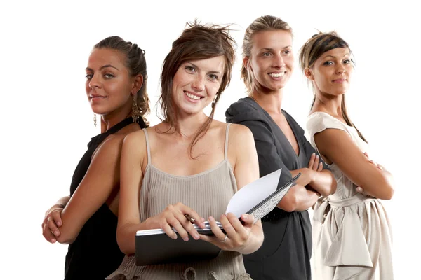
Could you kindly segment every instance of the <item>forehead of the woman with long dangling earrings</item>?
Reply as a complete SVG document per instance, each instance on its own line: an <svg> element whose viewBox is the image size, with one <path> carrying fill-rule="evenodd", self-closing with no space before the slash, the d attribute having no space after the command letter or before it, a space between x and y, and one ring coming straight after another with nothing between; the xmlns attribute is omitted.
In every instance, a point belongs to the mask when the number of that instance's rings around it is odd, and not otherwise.
<svg viewBox="0 0 421 280"><path fill-rule="evenodd" d="M118 50L112 50L109 48L94 48L89 55L88 67L94 69L95 67L101 67L107 64L112 66L125 66L126 57Z"/></svg>

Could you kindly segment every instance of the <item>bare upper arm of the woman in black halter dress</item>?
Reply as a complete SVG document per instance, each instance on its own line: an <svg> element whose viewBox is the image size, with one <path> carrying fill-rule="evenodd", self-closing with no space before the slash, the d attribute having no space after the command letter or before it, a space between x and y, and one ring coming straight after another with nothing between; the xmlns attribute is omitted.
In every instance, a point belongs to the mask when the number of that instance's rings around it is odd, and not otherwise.
<svg viewBox="0 0 421 280"><path fill-rule="evenodd" d="M121 137L112 137L98 148L88 171L62 211L58 242L72 243L86 221L119 186L121 142Z"/></svg>

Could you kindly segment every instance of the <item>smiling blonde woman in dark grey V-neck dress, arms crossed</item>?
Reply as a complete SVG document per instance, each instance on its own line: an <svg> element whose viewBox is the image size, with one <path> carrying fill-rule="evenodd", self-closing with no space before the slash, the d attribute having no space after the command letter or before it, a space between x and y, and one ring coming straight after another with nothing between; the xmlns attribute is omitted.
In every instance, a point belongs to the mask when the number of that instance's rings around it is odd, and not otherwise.
<svg viewBox="0 0 421 280"><path fill-rule="evenodd" d="M266 15L247 29L241 76L249 96L227 109L227 123L253 132L260 176L282 168L280 183L301 172L297 185L262 218L265 240L244 255L253 279L311 279L312 225L307 209L320 195L335 192L336 181L304 137L304 130L281 109L283 87L293 71L292 31L283 20Z"/></svg>

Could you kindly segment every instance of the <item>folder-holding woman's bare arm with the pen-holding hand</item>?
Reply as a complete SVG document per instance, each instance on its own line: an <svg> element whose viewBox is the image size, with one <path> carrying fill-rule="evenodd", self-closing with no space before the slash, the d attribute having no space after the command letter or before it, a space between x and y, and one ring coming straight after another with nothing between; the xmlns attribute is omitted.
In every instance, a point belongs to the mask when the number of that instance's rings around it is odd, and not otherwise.
<svg viewBox="0 0 421 280"><path fill-rule="evenodd" d="M189 214L196 220L196 224L204 227L203 219L193 209L184 204L168 205L161 214L147 218L140 223L140 190L143 180L143 167L147 165L146 141L143 131L133 132L123 141L121 151L121 181L119 222L117 225L117 243L120 250L126 255L135 253L135 235L138 230L161 228L168 237L177 238L174 227L182 239L188 239L189 232L194 239L199 239L199 234L193 224L185 218ZM140 206L142 207L142 206Z"/></svg>

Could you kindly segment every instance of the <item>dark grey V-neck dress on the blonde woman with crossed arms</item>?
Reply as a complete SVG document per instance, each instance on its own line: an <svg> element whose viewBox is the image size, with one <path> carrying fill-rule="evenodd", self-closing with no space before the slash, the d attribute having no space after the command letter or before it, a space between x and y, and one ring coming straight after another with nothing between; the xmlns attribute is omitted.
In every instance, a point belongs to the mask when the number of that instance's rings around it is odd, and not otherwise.
<svg viewBox="0 0 421 280"><path fill-rule="evenodd" d="M246 125L253 132L260 176L282 168L280 186L292 178L289 170L307 167L312 153L318 155L300 125L286 111L282 113L297 139L298 156L269 113L253 99L239 99L225 112L227 123ZM328 168L324 162L323 168ZM312 225L308 211L286 212L276 207L262 218L262 225L262 246L255 253L243 255L250 276L254 280L311 280Z"/></svg>

